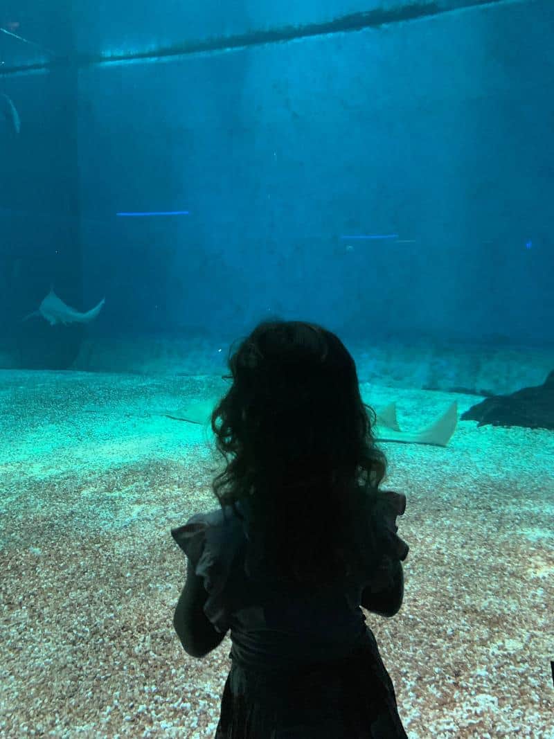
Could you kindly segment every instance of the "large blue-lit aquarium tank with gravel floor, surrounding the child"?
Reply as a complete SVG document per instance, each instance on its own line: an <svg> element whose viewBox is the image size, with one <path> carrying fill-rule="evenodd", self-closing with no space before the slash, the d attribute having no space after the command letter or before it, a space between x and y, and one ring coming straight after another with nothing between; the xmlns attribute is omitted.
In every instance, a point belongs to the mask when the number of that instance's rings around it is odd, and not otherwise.
<svg viewBox="0 0 554 739"><path fill-rule="evenodd" d="M553 34L551 0L4 2L1 736L216 734L233 630L182 649L170 532L221 511L230 351L306 321L406 496L403 605L362 612L406 734L554 737Z"/></svg>

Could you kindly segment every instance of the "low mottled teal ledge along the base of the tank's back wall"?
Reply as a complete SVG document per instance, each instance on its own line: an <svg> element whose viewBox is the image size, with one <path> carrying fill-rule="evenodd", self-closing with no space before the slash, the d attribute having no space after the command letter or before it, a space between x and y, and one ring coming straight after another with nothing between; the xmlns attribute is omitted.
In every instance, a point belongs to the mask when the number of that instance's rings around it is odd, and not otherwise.
<svg viewBox="0 0 554 739"><path fill-rule="evenodd" d="M75 363L86 372L225 375L229 341L89 338ZM417 341L348 341L360 382L495 395L541 385L554 368L545 347Z"/></svg>

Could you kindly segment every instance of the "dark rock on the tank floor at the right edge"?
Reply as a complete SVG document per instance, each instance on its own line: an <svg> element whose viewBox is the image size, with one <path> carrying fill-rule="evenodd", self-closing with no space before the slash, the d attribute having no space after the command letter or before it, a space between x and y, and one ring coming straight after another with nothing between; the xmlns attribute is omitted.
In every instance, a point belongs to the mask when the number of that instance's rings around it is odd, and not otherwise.
<svg viewBox="0 0 554 739"><path fill-rule="evenodd" d="M523 426L554 431L554 369L542 385L522 387L511 395L491 395L471 406L463 420L477 426Z"/></svg>

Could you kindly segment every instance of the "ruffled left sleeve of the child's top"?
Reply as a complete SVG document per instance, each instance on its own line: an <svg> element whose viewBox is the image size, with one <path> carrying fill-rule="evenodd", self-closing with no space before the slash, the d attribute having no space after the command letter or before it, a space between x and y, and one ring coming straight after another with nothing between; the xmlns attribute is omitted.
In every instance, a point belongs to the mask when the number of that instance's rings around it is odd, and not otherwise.
<svg viewBox="0 0 554 739"><path fill-rule="evenodd" d="M219 508L207 514L195 514L184 526L171 529L171 536L188 557L188 566L204 582L208 593L204 613L219 633L229 628L229 599L225 590L239 549L236 528Z"/></svg>

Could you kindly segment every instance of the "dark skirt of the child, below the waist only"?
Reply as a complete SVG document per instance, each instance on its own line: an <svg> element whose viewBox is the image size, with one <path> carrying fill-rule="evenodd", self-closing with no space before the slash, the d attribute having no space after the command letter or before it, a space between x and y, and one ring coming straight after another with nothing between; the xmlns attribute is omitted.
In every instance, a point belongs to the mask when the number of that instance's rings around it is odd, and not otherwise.
<svg viewBox="0 0 554 739"><path fill-rule="evenodd" d="M216 739L408 739L369 628L366 636L346 658L270 679L233 661Z"/></svg>

